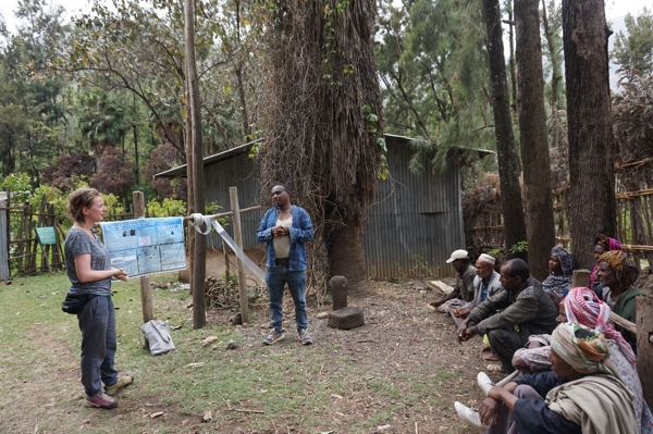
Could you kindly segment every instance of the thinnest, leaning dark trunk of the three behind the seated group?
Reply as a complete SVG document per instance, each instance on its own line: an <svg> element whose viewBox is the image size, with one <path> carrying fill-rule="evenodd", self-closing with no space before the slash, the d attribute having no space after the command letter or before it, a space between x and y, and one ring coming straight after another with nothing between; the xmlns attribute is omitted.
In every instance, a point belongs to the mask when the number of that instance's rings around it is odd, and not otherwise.
<svg viewBox="0 0 653 434"><path fill-rule="evenodd" d="M501 204L504 216L504 239L506 250L509 250L519 241L527 239L521 187L519 186L519 161L510 120L510 100L506 80L506 61L504 58L498 0L483 0L483 10L488 28L488 54L501 183ZM523 252L515 256L526 258Z"/></svg>

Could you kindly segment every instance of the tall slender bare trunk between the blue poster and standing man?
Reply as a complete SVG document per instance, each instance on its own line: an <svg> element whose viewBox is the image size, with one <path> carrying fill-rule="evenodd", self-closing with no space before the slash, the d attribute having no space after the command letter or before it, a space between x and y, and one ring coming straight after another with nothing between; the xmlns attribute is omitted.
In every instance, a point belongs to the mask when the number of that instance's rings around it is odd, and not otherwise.
<svg viewBox="0 0 653 434"><path fill-rule="evenodd" d="M199 78L197 76L197 64L195 61L195 1L184 1L184 29L186 36L186 86L188 89L188 107L186 112L190 117L192 150L193 152L193 201L195 212L205 212L204 197L204 160L201 144L201 119L199 114ZM189 164L190 165L190 164ZM207 323L205 278L207 270L207 238L196 236L193 249L193 327L202 328Z"/></svg>

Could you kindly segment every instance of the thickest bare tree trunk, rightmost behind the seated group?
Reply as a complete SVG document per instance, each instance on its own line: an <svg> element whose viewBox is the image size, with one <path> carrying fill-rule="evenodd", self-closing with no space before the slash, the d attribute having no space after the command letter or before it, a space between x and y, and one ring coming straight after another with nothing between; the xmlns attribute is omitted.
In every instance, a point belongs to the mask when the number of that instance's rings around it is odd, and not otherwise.
<svg viewBox="0 0 653 434"><path fill-rule="evenodd" d="M591 269L599 233L616 232L615 169L603 0L563 0L571 245Z"/></svg>

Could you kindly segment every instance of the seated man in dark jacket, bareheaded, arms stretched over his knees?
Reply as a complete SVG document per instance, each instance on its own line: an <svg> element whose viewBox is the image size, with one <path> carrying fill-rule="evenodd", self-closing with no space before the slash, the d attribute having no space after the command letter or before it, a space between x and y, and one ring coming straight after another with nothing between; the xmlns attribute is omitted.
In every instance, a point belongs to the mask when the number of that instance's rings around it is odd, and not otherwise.
<svg viewBox="0 0 653 434"><path fill-rule="evenodd" d="M530 335L553 332L557 308L540 283L530 277L523 260L507 261L500 274L505 290L477 306L463 321L457 335L463 343L476 334L488 334L492 351L498 356L503 370L510 373L515 370L513 355Z"/></svg>

